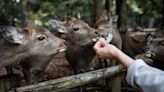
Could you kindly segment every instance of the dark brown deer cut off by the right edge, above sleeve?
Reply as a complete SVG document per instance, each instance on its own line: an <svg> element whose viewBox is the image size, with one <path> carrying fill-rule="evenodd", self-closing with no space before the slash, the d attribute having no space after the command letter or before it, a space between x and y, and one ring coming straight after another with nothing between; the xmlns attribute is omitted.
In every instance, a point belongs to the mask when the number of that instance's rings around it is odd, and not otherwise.
<svg viewBox="0 0 164 92"><path fill-rule="evenodd" d="M160 33L160 35L158 35ZM145 56L153 60L153 66L164 70L164 37L158 32L156 37L150 36L145 47Z"/></svg>

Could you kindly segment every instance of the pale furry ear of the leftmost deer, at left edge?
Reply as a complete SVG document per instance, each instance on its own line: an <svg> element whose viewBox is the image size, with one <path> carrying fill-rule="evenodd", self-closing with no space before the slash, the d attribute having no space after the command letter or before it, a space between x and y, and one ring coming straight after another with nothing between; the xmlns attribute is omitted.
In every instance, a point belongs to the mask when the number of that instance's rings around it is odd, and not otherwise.
<svg viewBox="0 0 164 92"><path fill-rule="evenodd" d="M18 30L13 26L3 26L0 28L0 32L5 40L14 43L22 44L23 34L18 32Z"/></svg>

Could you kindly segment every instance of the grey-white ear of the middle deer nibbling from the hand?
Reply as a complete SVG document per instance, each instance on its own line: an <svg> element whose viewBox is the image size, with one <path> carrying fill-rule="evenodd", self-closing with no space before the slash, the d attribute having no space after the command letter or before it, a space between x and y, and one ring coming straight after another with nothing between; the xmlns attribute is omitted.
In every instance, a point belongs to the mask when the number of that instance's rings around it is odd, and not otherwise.
<svg viewBox="0 0 164 92"><path fill-rule="evenodd" d="M59 20L55 20L55 19L49 19L48 24L49 24L49 28L50 28L51 32L67 34L67 29L64 26L63 22L61 22Z"/></svg>

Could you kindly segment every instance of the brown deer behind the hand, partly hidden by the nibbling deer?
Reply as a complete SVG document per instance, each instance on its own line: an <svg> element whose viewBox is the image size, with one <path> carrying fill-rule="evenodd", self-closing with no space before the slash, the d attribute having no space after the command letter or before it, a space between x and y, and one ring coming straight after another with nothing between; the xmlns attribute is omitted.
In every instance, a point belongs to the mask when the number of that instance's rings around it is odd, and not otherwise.
<svg viewBox="0 0 164 92"><path fill-rule="evenodd" d="M113 35L113 38L110 43L121 49L122 39L117 29L117 20L118 16L110 17L109 13L104 10L100 18L94 24L94 28L99 31L111 33Z"/></svg>

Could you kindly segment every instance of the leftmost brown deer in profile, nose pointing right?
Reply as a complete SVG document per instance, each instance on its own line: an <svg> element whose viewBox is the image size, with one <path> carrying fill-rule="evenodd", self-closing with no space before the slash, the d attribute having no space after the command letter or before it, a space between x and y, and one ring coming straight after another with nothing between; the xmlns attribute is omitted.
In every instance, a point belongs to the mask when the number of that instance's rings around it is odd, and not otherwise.
<svg viewBox="0 0 164 92"><path fill-rule="evenodd" d="M0 66L21 62L23 68L29 69L28 72L32 74L43 71L43 67L46 67L50 58L64 44L63 40L55 37L50 31L36 25L24 28L1 26L0 32L0 51L3 52Z"/></svg>

